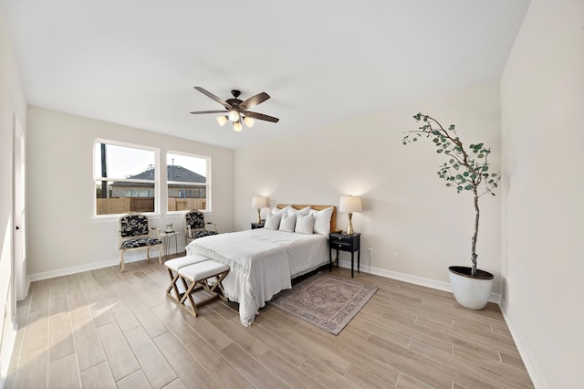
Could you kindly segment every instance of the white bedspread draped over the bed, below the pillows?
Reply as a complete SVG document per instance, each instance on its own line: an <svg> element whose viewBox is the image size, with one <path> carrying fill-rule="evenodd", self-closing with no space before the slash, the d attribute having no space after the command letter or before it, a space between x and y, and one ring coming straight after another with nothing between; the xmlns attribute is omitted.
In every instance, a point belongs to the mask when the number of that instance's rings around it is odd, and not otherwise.
<svg viewBox="0 0 584 389"><path fill-rule="evenodd" d="M193 240L186 254L200 254L229 265L225 294L239 302L239 317L249 327L277 292L292 288L291 279L328 263L328 238L266 228Z"/></svg>

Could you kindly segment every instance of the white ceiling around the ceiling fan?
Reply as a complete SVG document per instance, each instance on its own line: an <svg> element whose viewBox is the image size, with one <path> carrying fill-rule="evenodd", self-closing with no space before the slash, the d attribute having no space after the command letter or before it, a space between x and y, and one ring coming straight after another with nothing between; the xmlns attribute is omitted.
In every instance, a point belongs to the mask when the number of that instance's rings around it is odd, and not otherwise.
<svg viewBox="0 0 584 389"><path fill-rule="evenodd" d="M499 79L528 0L0 0L31 105L232 149ZM219 127L231 89L280 118Z"/></svg>

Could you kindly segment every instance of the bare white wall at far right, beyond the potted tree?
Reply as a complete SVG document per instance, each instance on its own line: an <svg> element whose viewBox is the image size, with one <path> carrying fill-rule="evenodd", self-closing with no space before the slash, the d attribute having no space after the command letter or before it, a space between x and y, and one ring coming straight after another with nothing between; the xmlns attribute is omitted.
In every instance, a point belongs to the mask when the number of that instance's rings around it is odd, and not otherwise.
<svg viewBox="0 0 584 389"><path fill-rule="evenodd" d="M537 387L582 387L584 2L532 1L501 96L502 307Z"/></svg>

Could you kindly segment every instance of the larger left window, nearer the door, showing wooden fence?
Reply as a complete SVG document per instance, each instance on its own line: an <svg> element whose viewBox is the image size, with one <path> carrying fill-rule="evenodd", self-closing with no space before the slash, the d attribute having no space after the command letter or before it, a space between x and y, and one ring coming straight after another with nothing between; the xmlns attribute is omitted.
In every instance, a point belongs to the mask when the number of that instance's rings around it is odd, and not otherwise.
<svg viewBox="0 0 584 389"><path fill-rule="evenodd" d="M157 149L96 140L95 215L154 212L159 186Z"/></svg>

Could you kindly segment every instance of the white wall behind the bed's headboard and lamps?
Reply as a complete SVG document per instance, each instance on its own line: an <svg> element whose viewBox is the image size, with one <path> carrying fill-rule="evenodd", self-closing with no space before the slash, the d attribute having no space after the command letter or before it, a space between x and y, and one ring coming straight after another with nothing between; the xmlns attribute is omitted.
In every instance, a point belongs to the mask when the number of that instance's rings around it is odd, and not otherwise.
<svg viewBox="0 0 584 389"><path fill-rule="evenodd" d="M420 110L444 125L454 123L464 142L491 145L496 169L499 106L494 82L237 150L235 228L249 228L255 221L254 195L266 195L270 206L338 206L339 196L360 195L364 210L353 215L353 226L362 233L363 269L449 289L448 266L471 264L473 198L457 195L436 175L443 158L432 142L404 146L403 131L417 128L412 115ZM499 197L485 196L482 208L479 268L495 273L498 293ZM346 214L339 213L338 226L347 227ZM367 247L373 248L370 259ZM394 252L400 253L399 261ZM341 253L341 263L349 258Z"/></svg>

